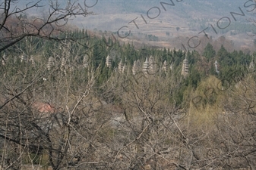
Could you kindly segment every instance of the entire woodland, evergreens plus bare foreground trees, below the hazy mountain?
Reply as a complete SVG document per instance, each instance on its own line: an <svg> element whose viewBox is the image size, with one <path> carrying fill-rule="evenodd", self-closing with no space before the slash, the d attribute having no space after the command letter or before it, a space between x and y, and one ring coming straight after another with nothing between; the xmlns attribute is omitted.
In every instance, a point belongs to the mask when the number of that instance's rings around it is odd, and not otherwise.
<svg viewBox="0 0 256 170"><path fill-rule="evenodd" d="M256 168L255 54L59 36L68 39L26 37L1 53L1 169ZM150 56L155 71L133 74Z"/></svg>

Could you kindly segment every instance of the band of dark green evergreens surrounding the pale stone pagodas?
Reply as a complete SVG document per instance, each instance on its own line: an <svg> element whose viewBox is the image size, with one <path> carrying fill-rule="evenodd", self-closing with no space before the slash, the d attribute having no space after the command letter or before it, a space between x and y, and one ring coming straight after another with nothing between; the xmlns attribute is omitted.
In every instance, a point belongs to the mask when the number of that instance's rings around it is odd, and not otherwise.
<svg viewBox="0 0 256 170"><path fill-rule="evenodd" d="M52 42L38 38L24 39L12 48L8 48L8 51L2 52L2 56L5 56L5 60L2 60L2 63L4 63L2 68L11 67L11 70L13 70L22 66L29 66L31 69L35 69L39 65L47 67L49 58L52 57L53 66L61 66L62 60L65 60L64 70L72 67L76 73L73 75L74 79L81 81L80 75L86 72L84 64L87 63L93 66L93 70L97 69L100 72L98 79L96 79L96 84L100 87L112 75L116 74L120 61L126 64L125 73L129 75L132 74L131 68L135 60L140 60L141 63L144 63L146 57L153 56L154 63L157 63L157 67L159 67L153 74L161 76L163 79L175 78L181 80L182 85L180 88L183 90L175 96L177 97L175 100L179 101L178 104L182 104L185 89L188 91L195 90L200 82L209 76L216 76L220 80L229 79L229 76L236 72L241 72L242 76L246 76L249 64L251 62L251 64L254 64L253 59L256 57L256 53L250 55L245 54L243 51L226 51L223 45L219 51L215 51L210 43L204 48L203 55L198 54L197 51L169 50L147 46L137 49L129 43L121 44L116 40L113 42L110 38L90 36L84 29L66 32L62 36L68 36L70 39L77 39L78 41L73 43L72 41ZM112 57L112 66L110 68L106 66L106 57L108 55ZM21 61L22 56L25 58L25 63ZM33 64L31 57L33 58ZM188 77L181 76L182 61L185 57L188 58L189 63ZM163 73L162 70L165 60L169 67L167 73ZM216 73L214 65L216 60L218 61L220 73ZM85 76L84 79L87 79L87 77ZM100 88L98 90L100 92Z"/></svg>

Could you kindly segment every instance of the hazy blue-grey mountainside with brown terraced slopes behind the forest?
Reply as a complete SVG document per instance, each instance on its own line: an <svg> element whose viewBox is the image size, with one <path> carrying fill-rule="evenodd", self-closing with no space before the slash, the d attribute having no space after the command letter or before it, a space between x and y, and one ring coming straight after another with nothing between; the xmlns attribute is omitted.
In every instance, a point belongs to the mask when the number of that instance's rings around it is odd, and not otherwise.
<svg viewBox="0 0 256 170"><path fill-rule="evenodd" d="M68 1L58 0L58 3L65 8ZM70 1L74 2L74 0ZM28 2L35 1L20 0L18 5L26 5ZM131 32L131 39L134 42L143 42L145 37L146 39L153 37L161 45L174 46L178 40L178 44L188 42L189 37L197 36L198 32L206 28L208 35L213 39L226 36L234 41L244 41L246 45L253 41L248 38L247 33L254 30L254 26L248 22L248 18L253 14L251 9L254 5L248 0L79 0L78 2L81 8L85 8L86 5L92 6L87 10L93 11L95 15L75 17L71 24L100 32L117 32L122 28L120 33L127 35ZM47 11L49 1L42 1L40 5L44 5ZM242 12L245 16L239 15ZM30 14L43 14L43 10L34 10ZM210 26L214 26L216 30ZM226 28L220 29L218 26ZM241 36L240 33L243 35Z"/></svg>

